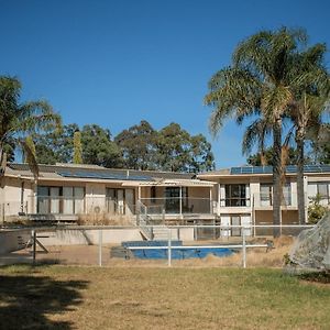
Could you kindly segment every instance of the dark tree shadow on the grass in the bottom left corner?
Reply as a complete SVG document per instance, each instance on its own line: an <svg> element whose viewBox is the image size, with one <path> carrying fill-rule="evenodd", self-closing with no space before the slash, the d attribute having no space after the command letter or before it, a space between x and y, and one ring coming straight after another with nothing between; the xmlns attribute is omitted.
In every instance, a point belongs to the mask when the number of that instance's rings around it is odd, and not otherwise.
<svg viewBox="0 0 330 330"><path fill-rule="evenodd" d="M51 320L81 304L86 280L55 280L40 275L0 276L1 329L72 329L73 322Z"/></svg>

